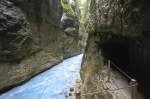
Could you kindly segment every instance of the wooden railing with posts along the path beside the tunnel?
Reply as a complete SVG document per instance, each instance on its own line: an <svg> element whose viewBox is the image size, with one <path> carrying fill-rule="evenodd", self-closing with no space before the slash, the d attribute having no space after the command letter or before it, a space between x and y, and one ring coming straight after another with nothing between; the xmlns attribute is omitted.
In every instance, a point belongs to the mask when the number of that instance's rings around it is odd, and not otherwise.
<svg viewBox="0 0 150 99"><path fill-rule="evenodd" d="M113 67L113 68L112 68ZM119 68L117 65L115 65L112 61L108 61L107 64L107 77L106 80L107 82L111 83L111 80L113 79L111 74L112 74L112 69L116 69L118 72L120 72L121 75L123 75L124 77L126 77L127 79L129 79L129 84L127 86L122 86L122 87L117 87L114 89L104 89L104 90L92 90L92 91L88 91L88 92L81 92L80 96L92 96L92 95L98 95L98 94L103 94L104 92L116 92L119 90L126 90L126 89L131 89L131 98L130 99L139 99L138 96L138 82L133 79L131 76L129 76L126 72L124 72L121 68ZM112 98L107 98L107 99L112 99ZM120 98L119 98L120 99Z"/></svg>

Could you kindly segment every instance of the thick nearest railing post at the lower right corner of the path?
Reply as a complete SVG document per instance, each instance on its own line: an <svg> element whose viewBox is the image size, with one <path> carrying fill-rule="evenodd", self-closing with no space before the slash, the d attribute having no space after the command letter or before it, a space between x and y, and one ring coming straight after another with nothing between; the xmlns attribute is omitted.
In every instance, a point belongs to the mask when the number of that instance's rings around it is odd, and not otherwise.
<svg viewBox="0 0 150 99"><path fill-rule="evenodd" d="M138 99L138 83L135 79L131 79L131 99Z"/></svg>

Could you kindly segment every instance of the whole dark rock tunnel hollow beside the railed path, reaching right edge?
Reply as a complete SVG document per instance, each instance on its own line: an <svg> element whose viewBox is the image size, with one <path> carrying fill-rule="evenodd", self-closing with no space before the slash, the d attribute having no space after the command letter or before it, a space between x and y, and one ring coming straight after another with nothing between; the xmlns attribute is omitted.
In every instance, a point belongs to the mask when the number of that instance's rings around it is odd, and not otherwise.
<svg viewBox="0 0 150 99"><path fill-rule="evenodd" d="M140 92L149 96L149 45L148 38L128 38L112 35L111 38L98 43L99 50L105 60L111 60L129 76L139 83ZM113 68L113 67L112 67Z"/></svg>

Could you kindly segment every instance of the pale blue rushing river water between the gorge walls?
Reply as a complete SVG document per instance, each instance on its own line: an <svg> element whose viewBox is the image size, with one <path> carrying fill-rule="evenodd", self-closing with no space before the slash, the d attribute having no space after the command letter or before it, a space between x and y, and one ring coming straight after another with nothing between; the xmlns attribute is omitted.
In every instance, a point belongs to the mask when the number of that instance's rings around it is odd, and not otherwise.
<svg viewBox="0 0 150 99"><path fill-rule="evenodd" d="M24 85L4 93L0 99L65 99L71 83L80 72L82 56L64 60Z"/></svg>

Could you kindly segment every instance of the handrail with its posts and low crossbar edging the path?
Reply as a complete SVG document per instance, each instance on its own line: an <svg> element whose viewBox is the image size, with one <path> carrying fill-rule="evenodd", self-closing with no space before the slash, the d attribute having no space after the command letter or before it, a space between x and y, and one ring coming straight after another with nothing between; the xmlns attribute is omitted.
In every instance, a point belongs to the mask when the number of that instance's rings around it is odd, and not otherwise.
<svg viewBox="0 0 150 99"><path fill-rule="evenodd" d="M113 88L113 89L96 89L91 92L82 92L80 93L80 96L88 96L88 95L96 95L96 94L103 94L105 92L115 92L118 90L124 90L127 88L131 88L131 99L138 99L138 82L130 77L126 72L124 72L122 69L120 69L115 63L113 63L111 60L108 61L108 76L110 76L110 68L111 66L114 66L121 74L123 74L125 77L130 79L130 83L127 86L119 87L119 88ZM110 77L108 77L108 82L110 81Z"/></svg>

